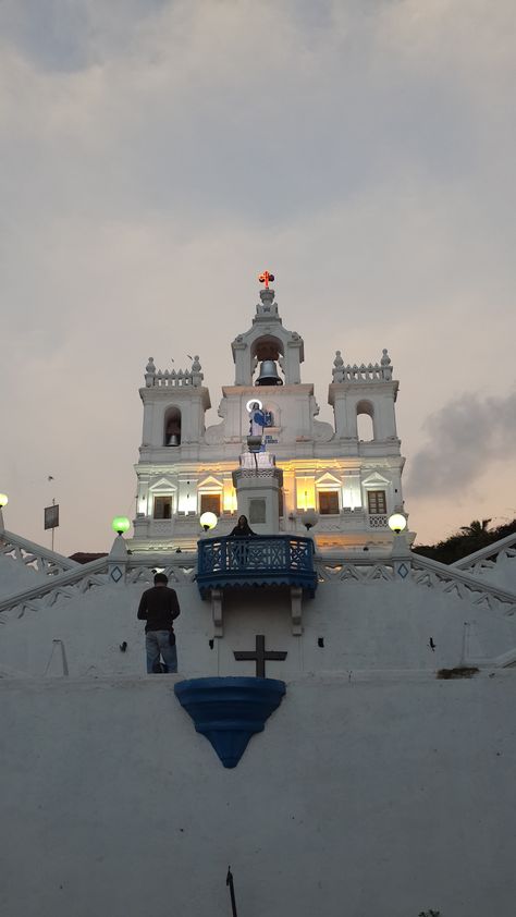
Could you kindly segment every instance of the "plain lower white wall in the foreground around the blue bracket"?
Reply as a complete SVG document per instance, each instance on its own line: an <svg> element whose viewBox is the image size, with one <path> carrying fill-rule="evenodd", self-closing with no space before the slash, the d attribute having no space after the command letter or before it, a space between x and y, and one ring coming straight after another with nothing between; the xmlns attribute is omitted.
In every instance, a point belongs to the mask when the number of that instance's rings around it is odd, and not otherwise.
<svg viewBox="0 0 516 917"><path fill-rule="evenodd" d="M7 917L513 913L514 672L294 680L235 770L173 682L0 681Z"/></svg>

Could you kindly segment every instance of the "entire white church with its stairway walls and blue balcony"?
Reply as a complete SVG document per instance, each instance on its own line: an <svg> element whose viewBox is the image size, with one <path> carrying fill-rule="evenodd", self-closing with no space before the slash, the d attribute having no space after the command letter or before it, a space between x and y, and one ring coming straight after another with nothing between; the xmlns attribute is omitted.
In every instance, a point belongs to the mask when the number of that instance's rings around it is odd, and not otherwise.
<svg viewBox="0 0 516 917"><path fill-rule="evenodd" d="M411 551L388 350L329 354L318 420L260 279L220 423L198 356L148 359L132 537L81 564L0 510L5 917L515 910L516 536ZM177 674L145 674L156 572Z"/></svg>

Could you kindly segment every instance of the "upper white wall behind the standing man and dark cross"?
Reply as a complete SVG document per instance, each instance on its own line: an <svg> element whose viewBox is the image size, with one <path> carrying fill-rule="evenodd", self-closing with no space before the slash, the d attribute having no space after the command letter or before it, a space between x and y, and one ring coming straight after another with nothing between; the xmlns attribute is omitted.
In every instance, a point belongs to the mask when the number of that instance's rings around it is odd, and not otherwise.
<svg viewBox="0 0 516 917"><path fill-rule="evenodd" d="M470 625L470 652L494 658L516 648L516 620L470 601L414 583L373 580L320 583L316 598L304 601L304 633L292 635L288 596L283 590L241 589L224 598L224 637L213 636L211 604L192 583L171 582L182 614L176 622L180 671L192 675L255 674L251 662L235 662L234 650L254 649L265 634L267 648L286 650L284 662L271 662L271 677L303 672L361 669L435 670L458 665L464 622ZM100 586L51 608L1 615L0 665L30 675L61 675L64 643L70 674L139 675L145 672L144 622L136 610L140 586ZM432 637L435 651L429 647ZM318 646L322 638L323 648ZM127 643L122 653L120 645ZM52 655L53 650L53 655ZM49 664L50 661L50 664Z"/></svg>

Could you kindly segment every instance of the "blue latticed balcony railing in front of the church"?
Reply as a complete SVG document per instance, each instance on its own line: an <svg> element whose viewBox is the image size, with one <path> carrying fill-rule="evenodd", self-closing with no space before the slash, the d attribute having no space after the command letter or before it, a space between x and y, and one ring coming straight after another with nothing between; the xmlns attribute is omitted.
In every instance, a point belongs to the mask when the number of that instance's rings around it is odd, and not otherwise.
<svg viewBox="0 0 516 917"><path fill-rule="evenodd" d="M198 542L201 596L228 586L300 586L314 595L314 542L297 535L206 538Z"/></svg>

